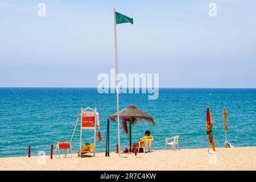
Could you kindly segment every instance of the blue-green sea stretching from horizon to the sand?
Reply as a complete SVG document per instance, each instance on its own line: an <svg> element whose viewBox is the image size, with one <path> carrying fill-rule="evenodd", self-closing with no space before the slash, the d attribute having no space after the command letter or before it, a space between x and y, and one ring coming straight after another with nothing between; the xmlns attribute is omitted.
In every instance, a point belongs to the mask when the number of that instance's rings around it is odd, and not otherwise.
<svg viewBox="0 0 256 182"><path fill-rule="evenodd" d="M156 122L132 126L133 143L150 130L153 150L164 149L165 138L180 135L182 148L206 148L207 106L213 117L216 147L224 147L223 107L228 111L228 142L234 147L256 146L256 89L165 89L157 100L147 94L120 94L119 109L134 104L151 114ZM105 152L106 123L116 112L116 95L99 94L96 88L0 88L0 157L26 156L45 151L51 144L69 141L81 107L97 107L103 143L96 152ZM129 135L121 131L121 147L129 146ZM79 150L80 125L72 146ZM117 123L110 122L110 151L118 143ZM93 143L93 131L83 130L83 144ZM64 152L63 152L64 154Z"/></svg>

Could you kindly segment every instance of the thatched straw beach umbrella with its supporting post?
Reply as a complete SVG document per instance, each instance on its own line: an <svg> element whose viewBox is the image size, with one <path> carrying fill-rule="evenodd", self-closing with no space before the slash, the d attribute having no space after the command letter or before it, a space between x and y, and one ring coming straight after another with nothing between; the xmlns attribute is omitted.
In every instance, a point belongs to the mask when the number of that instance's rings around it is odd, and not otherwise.
<svg viewBox="0 0 256 182"><path fill-rule="evenodd" d="M119 118L123 119L123 121L129 122L129 130L130 130L130 152L131 152L131 124L135 125L134 118L140 122L149 122L152 125L155 125L155 121L152 115L144 113L142 110L137 109L135 105L128 105L125 109L119 111ZM115 122L115 118L117 118L117 113L110 115L109 119Z"/></svg>

